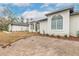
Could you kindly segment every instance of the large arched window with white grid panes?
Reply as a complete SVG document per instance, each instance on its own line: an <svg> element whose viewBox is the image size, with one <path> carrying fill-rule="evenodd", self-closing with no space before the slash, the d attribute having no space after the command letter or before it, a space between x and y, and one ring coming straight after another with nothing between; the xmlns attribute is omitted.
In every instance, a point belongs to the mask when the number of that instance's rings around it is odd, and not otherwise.
<svg viewBox="0 0 79 59"><path fill-rule="evenodd" d="M63 17L61 15L53 16L51 21L52 29L63 29Z"/></svg>

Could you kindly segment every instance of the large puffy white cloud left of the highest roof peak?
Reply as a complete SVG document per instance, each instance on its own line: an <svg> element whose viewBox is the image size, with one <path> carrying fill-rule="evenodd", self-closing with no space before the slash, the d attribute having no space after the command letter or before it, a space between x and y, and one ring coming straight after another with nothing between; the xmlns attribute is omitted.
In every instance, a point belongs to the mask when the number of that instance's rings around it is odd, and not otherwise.
<svg viewBox="0 0 79 59"><path fill-rule="evenodd" d="M37 10L25 11L22 16L24 18L43 18L48 11L40 12Z"/></svg>

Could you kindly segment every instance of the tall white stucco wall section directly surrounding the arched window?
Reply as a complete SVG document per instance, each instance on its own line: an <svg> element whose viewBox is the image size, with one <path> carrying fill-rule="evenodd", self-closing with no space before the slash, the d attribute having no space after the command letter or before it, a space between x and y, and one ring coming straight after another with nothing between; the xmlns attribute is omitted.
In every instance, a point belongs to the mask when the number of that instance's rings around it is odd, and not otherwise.
<svg viewBox="0 0 79 59"><path fill-rule="evenodd" d="M51 16L48 16L48 33L49 35L60 35L64 36L67 35L69 36L69 20L70 20L70 10L65 10L56 14L53 14ZM63 29L62 30L53 30L51 29L51 19L55 15L61 15L63 17Z"/></svg>

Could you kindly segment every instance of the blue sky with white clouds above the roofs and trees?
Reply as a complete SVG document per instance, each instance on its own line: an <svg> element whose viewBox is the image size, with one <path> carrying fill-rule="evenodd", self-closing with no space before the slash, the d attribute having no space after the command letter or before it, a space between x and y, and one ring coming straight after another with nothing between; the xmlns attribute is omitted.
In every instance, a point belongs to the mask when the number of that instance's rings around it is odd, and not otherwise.
<svg viewBox="0 0 79 59"><path fill-rule="evenodd" d="M72 6L75 11L79 11L78 3L0 3L0 14L4 14L5 9L8 8L16 16L43 17L48 12Z"/></svg>

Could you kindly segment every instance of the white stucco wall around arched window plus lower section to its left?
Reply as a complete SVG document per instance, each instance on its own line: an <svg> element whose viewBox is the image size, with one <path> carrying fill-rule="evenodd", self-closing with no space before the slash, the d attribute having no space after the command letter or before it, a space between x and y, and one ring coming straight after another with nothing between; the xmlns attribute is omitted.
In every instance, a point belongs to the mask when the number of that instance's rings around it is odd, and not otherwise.
<svg viewBox="0 0 79 59"><path fill-rule="evenodd" d="M64 35L69 36L69 20L70 20L69 11L70 10L65 10L65 11L62 11L59 13L52 14L52 15L48 16L47 21L40 22L40 33L43 33L43 31L44 31L46 34L49 34L49 35L53 34L53 35L60 35L60 36L64 36ZM62 30L51 29L51 19L55 15L63 16L63 29Z"/></svg>

